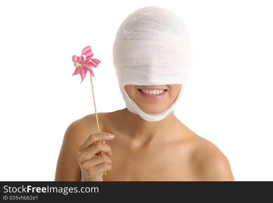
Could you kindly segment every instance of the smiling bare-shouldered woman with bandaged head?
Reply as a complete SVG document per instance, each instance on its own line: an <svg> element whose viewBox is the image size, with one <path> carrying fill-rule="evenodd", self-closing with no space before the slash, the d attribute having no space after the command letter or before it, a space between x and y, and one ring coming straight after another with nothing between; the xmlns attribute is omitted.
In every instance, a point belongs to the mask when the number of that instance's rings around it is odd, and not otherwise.
<svg viewBox="0 0 273 203"><path fill-rule="evenodd" d="M190 67L178 15L134 11L117 32L113 59L126 108L98 113L100 133L95 114L69 125L55 181L233 181L226 156L174 114Z"/></svg>

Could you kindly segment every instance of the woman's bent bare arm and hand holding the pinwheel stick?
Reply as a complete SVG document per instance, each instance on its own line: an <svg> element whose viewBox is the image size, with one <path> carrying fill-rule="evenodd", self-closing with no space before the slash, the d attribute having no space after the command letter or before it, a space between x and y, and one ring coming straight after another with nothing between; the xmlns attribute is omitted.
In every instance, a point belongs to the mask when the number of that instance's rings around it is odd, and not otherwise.
<svg viewBox="0 0 273 203"><path fill-rule="evenodd" d="M98 114L100 121L103 121L105 114ZM105 140L113 138L109 137L108 133L98 133L94 121L95 114L90 114L74 121L66 129L57 161L55 181L103 180L99 174L111 170L112 160L105 154L100 155L101 151L104 151L111 156L111 148L105 144ZM100 127L103 129L103 123L100 123ZM102 143L95 144L99 140Z"/></svg>

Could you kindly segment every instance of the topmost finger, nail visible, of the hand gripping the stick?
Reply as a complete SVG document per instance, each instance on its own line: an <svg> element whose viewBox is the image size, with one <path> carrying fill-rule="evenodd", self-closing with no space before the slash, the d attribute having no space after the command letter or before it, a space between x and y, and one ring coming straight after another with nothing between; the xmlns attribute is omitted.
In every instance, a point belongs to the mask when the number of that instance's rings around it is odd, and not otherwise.
<svg viewBox="0 0 273 203"><path fill-rule="evenodd" d="M90 147L92 144L94 144L97 141L100 140L111 140L114 138L114 135L111 135L110 133L105 132L99 132L99 133L92 133L88 136L88 138L79 146L78 152L81 152L88 147Z"/></svg>

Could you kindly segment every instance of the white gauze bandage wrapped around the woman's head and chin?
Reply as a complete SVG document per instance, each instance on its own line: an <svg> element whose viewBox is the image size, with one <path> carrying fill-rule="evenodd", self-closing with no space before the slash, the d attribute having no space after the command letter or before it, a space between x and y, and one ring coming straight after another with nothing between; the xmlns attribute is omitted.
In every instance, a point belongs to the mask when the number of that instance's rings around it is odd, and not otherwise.
<svg viewBox="0 0 273 203"><path fill-rule="evenodd" d="M146 121L172 113L185 89L191 49L180 17L161 7L134 11L121 24L113 46L113 63L126 108ZM181 84L177 99L164 112L147 114L128 96L125 85Z"/></svg>

